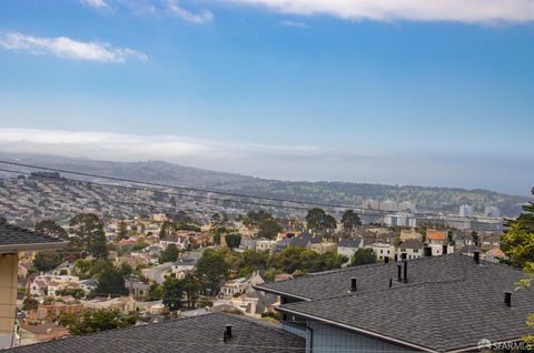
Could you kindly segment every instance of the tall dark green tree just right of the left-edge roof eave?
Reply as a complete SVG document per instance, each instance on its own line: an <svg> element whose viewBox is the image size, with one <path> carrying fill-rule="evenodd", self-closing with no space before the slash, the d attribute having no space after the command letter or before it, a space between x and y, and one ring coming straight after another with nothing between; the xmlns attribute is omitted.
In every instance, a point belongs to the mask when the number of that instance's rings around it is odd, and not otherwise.
<svg viewBox="0 0 534 353"><path fill-rule="evenodd" d="M106 236L103 223L93 213L79 213L70 220L70 231L75 234L82 250L88 251L98 259L106 259L108 250L106 248Z"/></svg>

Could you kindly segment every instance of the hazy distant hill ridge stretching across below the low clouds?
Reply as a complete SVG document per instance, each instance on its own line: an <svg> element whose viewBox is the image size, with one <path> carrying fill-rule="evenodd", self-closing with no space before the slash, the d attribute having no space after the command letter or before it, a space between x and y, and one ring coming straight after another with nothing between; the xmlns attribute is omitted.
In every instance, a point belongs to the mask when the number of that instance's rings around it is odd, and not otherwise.
<svg viewBox="0 0 534 353"><path fill-rule="evenodd" d="M267 180L234 173L202 170L160 162L95 161L37 154L0 153L2 160L118 176L172 185L231 191L256 196L360 206L367 199L414 202L418 211L457 213L461 204L474 205L475 212L496 205L504 216L516 216L530 198L488 190L384 185L350 182L295 182ZM10 167L10 169L13 169ZM1 172L0 172L1 174ZM67 175L68 176L68 175Z"/></svg>

